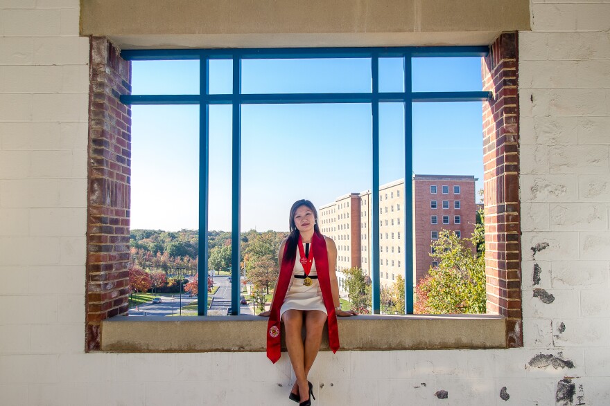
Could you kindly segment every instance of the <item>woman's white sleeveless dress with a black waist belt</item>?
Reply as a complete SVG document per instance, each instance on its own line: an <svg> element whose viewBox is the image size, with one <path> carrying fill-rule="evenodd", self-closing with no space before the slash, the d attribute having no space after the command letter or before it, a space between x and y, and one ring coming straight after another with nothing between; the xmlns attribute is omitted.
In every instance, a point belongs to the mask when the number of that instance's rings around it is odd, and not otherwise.
<svg viewBox="0 0 610 406"><path fill-rule="evenodd" d="M293 275L290 277L290 284L288 284L288 290L286 291L286 297L284 297L284 304L279 309L279 317L287 310L319 310L326 313L326 306L324 306L324 300L322 299L322 290L320 290L320 282L318 279L311 279L312 284L305 286L303 284L305 279L295 278L295 275L305 275L303 264L301 264L301 255L297 248L297 259L295 261L295 268L293 269ZM311 264L311 271L309 276L317 276L315 270L315 259Z"/></svg>

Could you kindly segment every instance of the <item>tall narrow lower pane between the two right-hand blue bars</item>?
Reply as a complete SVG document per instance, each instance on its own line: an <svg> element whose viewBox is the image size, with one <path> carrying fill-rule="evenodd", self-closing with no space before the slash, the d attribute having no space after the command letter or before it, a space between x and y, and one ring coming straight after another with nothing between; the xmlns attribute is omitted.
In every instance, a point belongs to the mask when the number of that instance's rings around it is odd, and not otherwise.
<svg viewBox="0 0 610 406"><path fill-rule="evenodd" d="M396 291L404 290L405 276L403 103L379 104L379 183L380 310L383 314L401 314L404 313L404 300Z"/></svg>

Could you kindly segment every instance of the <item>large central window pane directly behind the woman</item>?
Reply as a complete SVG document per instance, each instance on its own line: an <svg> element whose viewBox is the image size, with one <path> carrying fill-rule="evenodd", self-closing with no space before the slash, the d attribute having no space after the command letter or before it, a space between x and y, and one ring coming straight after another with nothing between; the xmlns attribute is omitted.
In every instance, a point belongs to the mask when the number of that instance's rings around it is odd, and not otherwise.
<svg viewBox="0 0 610 406"><path fill-rule="evenodd" d="M369 265L363 263L362 230L370 203L363 205L361 196L366 198L372 183L370 105L247 105L242 114L241 221L252 289L266 295L265 281L275 283L290 207L308 199L317 209L320 231L336 243L339 286L347 298L347 271L362 273ZM256 245L264 250L254 250Z"/></svg>

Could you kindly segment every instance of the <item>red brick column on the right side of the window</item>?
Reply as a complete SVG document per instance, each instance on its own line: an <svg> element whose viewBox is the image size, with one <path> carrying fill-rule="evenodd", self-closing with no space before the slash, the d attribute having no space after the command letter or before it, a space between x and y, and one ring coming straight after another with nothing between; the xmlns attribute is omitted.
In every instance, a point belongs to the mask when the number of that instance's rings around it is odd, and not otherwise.
<svg viewBox="0 0 610 406"><path fill-rule="evenodd" d="M509 347L523 345L519 207L519 97L517 33L503 33L483 60L485 268L487 313L507 317Z"/></svg>

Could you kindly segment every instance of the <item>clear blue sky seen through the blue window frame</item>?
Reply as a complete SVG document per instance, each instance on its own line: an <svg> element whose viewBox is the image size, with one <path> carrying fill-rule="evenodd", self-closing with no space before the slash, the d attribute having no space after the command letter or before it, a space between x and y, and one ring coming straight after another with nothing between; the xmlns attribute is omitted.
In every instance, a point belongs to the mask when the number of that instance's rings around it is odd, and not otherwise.
<svg viewBox="0 0 610 406"><path fill-rule="evenodd" d="M480 58L420 58L414 91L480 91ZM210 93L232 91L232 62L210 66ZM367 92L368 59L248 60L243 93ZM451 73L449 75L448 73ZM403 89L402 61L380 61L380 91ZM133 94L193 94L198 62L132 62ZM416 103L416 174L473 175L482 187L481 102ZM199 109L132 107L132 228L198 228ZM380 107L380 181L403 178L401 103ZM209 229L231 228L230 106L210 107ZM242 107L242 230L287 230L297 199L318 207L372 187L369 104Z"/></svg>

